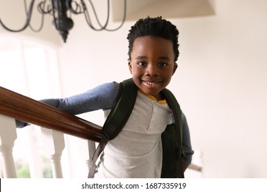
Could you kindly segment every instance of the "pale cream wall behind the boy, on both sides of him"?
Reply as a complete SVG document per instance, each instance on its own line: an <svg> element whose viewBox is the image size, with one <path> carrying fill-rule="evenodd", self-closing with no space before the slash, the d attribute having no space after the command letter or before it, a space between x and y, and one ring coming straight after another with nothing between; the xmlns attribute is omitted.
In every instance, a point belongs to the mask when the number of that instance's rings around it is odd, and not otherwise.
<svg viewBox="0 0 267 192"><path fill-rule="evenodd" d="M214 5L215 16L170 19L180 31L181 54L168 88L186 113L193 147L203 152L205 178L266 178L267 1ZM63 95L130 77L126 36L134 22L94 32L83 16L73 18L59 49Z"/></svg>

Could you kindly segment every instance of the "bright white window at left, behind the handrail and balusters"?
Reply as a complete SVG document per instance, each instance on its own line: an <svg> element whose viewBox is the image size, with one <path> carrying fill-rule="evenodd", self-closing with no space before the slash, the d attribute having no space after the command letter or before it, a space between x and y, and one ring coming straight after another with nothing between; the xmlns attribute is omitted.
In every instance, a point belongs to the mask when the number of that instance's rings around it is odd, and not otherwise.
<svg viewBox="0 0 267 192"><path fill-rule="evenodd" d="M61 95L55 49L10 36L0 35L0 42L0 86L36 100ZM13 154L18 178L51 177L40 128L27 126L17 134Z"/></svg>

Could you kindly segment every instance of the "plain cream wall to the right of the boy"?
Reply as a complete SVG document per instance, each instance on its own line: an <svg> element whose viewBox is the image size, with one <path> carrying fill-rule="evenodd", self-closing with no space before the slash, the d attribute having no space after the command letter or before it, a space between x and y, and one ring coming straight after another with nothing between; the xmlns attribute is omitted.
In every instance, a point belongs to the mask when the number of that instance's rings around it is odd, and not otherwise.
<svg viewBox="0 0 267 192"><path fill-rule="evenodd" d="M176 20L177 93L207 178L267 176L267 1L216 1L216 16ZM175 84L170 86L175 88Z"/></svg>

